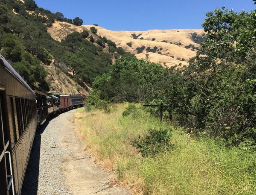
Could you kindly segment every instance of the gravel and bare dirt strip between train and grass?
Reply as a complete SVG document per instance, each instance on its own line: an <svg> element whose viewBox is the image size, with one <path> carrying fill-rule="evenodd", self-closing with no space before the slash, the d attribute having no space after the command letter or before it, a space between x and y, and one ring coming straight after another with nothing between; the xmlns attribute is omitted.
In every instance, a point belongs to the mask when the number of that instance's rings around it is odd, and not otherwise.
<svg viewBox="0 0 256 195"><path fill-rule="evenodd" d="M74 113L60 114L37 131L22 195L128 194L109 185L114 175L104 172L83 150L70 121Z"/></svg>

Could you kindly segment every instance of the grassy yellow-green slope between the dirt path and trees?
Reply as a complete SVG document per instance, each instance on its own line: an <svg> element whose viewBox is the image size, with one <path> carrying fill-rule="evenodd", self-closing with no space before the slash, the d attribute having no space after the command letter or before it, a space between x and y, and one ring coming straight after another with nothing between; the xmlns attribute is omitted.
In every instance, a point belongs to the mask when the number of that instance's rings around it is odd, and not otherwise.
<svg viewBox="0 0 256 195"><path fill-rule="evenodd" d="M254 194L256 154L225 148L210 138L190 138L172 128L173 149L154 158L141 157L131 141L149 128L170 128L139 109L137 117L122 117L126 104L111 113L78 110L75 121L85 148L114 180L134 194Z"/></svg>

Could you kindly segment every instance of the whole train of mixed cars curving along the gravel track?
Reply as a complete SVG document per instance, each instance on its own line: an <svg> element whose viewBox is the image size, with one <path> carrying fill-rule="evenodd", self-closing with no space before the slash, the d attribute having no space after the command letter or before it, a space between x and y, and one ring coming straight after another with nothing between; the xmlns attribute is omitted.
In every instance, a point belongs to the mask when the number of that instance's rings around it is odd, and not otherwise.
<svg viewBox="0 0 256 195"><path fill-rule="evenodd" d="M47 118L82 107L84 95L32 90L0 54L0 191L21 194L36 130Z"/></svg>

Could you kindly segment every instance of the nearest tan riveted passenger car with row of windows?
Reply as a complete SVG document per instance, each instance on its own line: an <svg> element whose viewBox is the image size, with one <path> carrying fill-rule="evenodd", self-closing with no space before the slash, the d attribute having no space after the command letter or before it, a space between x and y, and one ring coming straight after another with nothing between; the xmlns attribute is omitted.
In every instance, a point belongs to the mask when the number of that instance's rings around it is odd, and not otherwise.
<svg viewBox="0 0 256 195"><path fill-rule="evenodd" d="M19 194L38 125L36 95L0 55L0 193Z"/></svg>

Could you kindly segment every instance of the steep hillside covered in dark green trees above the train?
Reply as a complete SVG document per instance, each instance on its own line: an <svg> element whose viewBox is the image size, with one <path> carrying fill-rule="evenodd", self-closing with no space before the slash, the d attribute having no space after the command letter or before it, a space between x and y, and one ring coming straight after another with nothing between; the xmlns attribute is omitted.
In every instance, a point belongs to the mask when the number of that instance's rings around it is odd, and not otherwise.
<svg viewBox="0 0 256 195"><path fill-rule="evenodd" d="M33 89L87 93L115 59L132 54L82 23L79 17L70 19L38 7L33 0L1 1L0 53ZM53 75L53 61L58 75Z"/></svg>

